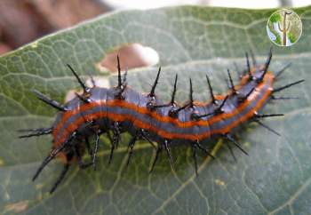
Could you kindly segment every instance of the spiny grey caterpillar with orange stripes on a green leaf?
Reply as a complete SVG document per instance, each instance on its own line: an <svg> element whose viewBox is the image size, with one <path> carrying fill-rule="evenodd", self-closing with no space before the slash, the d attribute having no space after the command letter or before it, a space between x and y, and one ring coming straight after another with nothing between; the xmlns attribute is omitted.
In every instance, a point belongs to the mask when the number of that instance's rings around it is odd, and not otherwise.
<svg viewBox="0 0 311 215"><path fill-rule="evenodd" d="M211 153L203 146L203 140L211 138L227 139L227 147L233 154L232 146L238 147L244 154L247 152L241 147L234 137L235 129L242 123L256 122L267 130L279 133L262 122L263 118L280 116L283 114L259 114L269 100L288 100L291 97L277 97L275 94L304 80L286 84L274 88L274 83L283 71L290 67L286 65L278 72L268 70L272 59L270 48L265 64L259 65L252 52L251 59L245 53L246 68L241 74L240 84L234 85L231 73L227 70L228 87L227 95L216 95L213 92L209 76L206 82L211 96L211 101L201 103L193 98L192 80L189 79L189 99L183 105L175 101L178 76L175 76L171 100L163 102L156 96L156 85L161 74L159 68L156 80L148 93L135 92L127 84L126 71L121 75L120 60L117 57L117 85L110 89L96 86L92 81L92 87L84 84L76 74L74 68L68 65L77 82L83 89L83 93L76 93L76 97L61 105L43 93L32 90L39 100L56 108L59 113L55 122L49 128L21 130L24 133L20 138L29 138L52 134L52 149L43 163L37 169L35 180L44 167L55 157L59 156L64 163L63 171L56 180L50 193L60 185L73 161L76 161L80 169L93 167L96 169L96 154L99 149L100 135L107 134L111 141L111 151L108 163L111 162L114 150L120 141L123 132L129 132L132 136L128 143L129 155L127 164L130 163L135 142L145 139L156 148L156 155L152 162L150 172L153 171L158 155L166 151L171 167L173 159L171 147L186 144L192 147L192 154L197 174L197 150L202 150L206 155ZM110 134L111 133L111 134ZM90 138L95 138L91 147ZM155 145L156 142L157 144ZM84 153L91 156L91 161L85 162ZM234 156L235 157L235 156Z"/></svg>

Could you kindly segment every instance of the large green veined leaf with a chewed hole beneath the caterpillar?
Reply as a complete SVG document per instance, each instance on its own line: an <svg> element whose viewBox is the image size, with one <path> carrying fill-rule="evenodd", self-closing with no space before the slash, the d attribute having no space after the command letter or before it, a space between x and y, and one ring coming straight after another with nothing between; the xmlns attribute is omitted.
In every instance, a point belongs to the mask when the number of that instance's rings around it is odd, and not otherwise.
<svg viewBox="0 0 311 215"><path fill-rule="evenodd" d="M124 135L110 165L107 139L101 139L98 170L79 171L74 165L49 195L60 162L49 164L35 182L31 178L52 147L52 137L17 138L19 129L47 127L54 120L55 111L36 100L30 89L63 101L78 86L66 64L84 78L91 73L114 84L116 76L100 72L96 64L124 44L139 43L158 52L163 74L156 93L163 100L169 100L176 73L179 101L187 100L190 76L197 100L208 99L206 73L215 91L226 92L226 69L235 70L234 62L242 69L244 52L251 49L264 62L271 45L266 24L274 11L182 6L115 12L1 57L2 214L311 214L311 7L294 10L303 22L303 34L291 47L274 47L270 67L277 71L293 63L275 86L306 79L305 84L280 93L301 99L273 101L265 108L265 113L286 114L265 120L282 137L253 123L237 131L249 153L243 155L235 148L237 162L227 147L220 148L215 160L200 154L195 177L190 148L178 147L172 149L176 172L163 154L156 170L148 174L155 155L148 143L135 146L126 168L128 136ZM155 76L156 68L132 69L128 83L146 92ZM215 143L219 146L221 141L214 139L205 146Z"/></svg>

